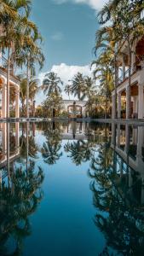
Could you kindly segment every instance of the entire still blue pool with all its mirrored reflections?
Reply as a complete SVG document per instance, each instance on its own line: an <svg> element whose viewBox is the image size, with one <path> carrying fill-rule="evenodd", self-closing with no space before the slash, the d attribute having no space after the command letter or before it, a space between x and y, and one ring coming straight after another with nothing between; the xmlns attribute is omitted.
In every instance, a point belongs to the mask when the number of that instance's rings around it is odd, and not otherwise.
<svg viewBox="0 0 144 256"><path fill-rule="evenodd" d="M144 126L0 124L0 255L143 255Z"/></svg>

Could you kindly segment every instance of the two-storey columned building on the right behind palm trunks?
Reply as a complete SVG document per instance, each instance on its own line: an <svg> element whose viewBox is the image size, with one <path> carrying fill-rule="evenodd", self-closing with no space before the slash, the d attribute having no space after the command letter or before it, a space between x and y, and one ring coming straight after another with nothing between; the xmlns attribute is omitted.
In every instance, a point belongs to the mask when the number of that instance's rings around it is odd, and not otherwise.
<svg viewBox="0 0 144 256"><path fill-rule="evenodd" d="M131 52L131 86L129 97L129 56L128 45L125 43L120 51L119 65L123 67L123 73L118 78L118 118L129 118L129 105L131 106L131 117L143 119L144 118L144 37L134 43ZM126 68L127 67L127 68ZM112 105L114 106L115 92L112 92ZM130 100L131 99L131 100ZM124 113L122 109L124 107ZM114 109L112 108L112 118L114 117Z"/></svg>

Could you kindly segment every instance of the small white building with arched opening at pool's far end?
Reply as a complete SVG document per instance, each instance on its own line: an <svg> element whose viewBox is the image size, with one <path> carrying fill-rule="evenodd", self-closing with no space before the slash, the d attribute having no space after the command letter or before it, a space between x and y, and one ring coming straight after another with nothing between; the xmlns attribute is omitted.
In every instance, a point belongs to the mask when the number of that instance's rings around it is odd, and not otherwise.
<svg viewBox="0 0 144 256"><path fill-rule="evenodd" d="M85 104L86 101L62 101L64 108L71 118L82 118L85 117Z"/></svg>

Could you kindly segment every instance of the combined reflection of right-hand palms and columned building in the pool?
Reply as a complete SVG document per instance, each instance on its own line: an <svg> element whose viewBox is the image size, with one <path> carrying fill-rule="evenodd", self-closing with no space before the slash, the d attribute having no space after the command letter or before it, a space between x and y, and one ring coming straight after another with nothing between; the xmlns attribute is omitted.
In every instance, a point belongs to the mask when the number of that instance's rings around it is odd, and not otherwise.
<svg viewBox="0 0 144 256"><path fill-rule="evenodd" d="M142 255L144 249L144 127L112 124L111 145L102 143L89 177L95 225L106 237L100 255ZM117 255L118 253L114 253Z"/></svg>

